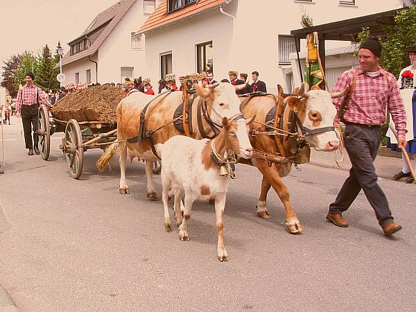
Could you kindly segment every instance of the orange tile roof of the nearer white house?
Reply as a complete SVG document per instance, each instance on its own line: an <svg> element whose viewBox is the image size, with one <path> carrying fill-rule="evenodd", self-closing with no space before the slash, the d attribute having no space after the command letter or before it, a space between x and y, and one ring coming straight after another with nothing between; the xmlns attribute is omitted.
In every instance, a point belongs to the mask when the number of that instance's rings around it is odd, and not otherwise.
<svg viewBox="0 0 416 312"><path fill-rule="evenodd" d="M175 23L182 19L186 19L192 17L193 15L200 14L201 12L214 9L226 2L226 0L199 0L175 12L167 14L167 0L164 0L156 8L155 12L150 15L143 26L141 26L137 33L148 33L149 31L155 31L158 28L168 26L169 24Z"/></svg>

